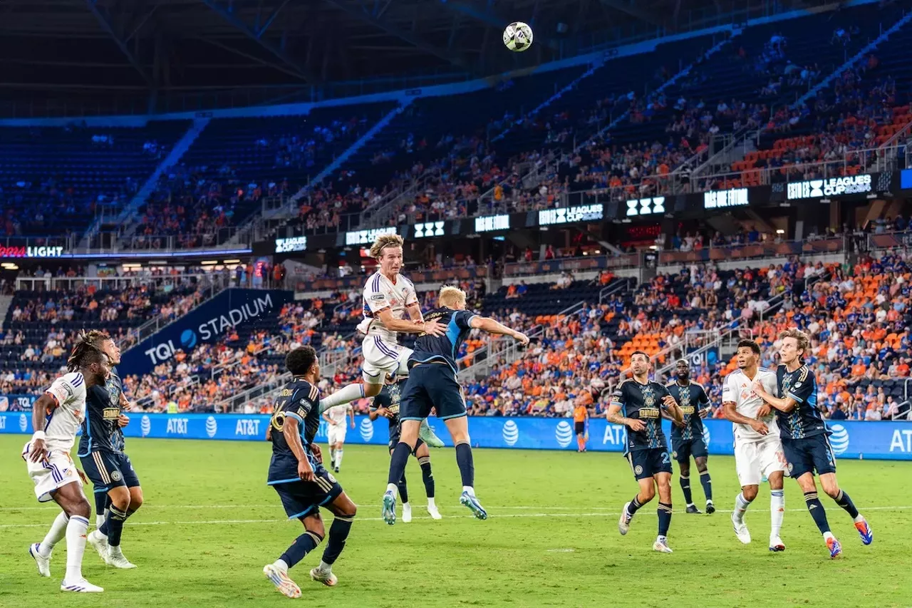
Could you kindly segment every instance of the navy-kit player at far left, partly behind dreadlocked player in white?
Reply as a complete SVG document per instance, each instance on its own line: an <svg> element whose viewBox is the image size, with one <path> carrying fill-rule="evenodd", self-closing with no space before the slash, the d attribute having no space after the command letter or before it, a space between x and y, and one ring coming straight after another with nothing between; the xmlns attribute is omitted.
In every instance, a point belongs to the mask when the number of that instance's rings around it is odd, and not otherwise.
<svg viewBox="0 0 912 608"><path fill-rule="evenodd" d="M86 340L108 355L111 365L119 364L120 349L107 333L91 330ZM107 383L88 389L79 439L79 460L95 489L98 529L88 535L88 544L115 568L136 568L120 550L120 534L126 519L142 506L140 478L124 454L122 428L130 419L123 408L129 405L117 368L112 368Z"/></svg>

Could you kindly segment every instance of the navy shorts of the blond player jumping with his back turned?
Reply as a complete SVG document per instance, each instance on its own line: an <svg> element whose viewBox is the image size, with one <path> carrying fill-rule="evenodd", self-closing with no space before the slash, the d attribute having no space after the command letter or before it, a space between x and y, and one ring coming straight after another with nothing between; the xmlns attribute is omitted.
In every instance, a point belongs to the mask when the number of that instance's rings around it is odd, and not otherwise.
<svg viewBox="0 0 912 608"><path fill-rule="evenodd" d="M462 387L456 374L443 363L420 363L411 368L399 402L399 420L423 420L430 410L440 420L466 415Z"/></svg>

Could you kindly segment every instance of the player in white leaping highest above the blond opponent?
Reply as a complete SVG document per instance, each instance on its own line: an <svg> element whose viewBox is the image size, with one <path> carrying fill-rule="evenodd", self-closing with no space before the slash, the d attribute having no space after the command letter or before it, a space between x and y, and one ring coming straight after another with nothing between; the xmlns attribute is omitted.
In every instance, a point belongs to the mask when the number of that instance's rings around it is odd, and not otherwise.
<svg viewBox="0 0 912 608"><path fill-rule="evenodd" d="M409 374L407 363L411 351L397 342L397 332L443 335L444 328L439 323L422 320L415 286L399 274L402 244L399 235L381 235L370 247L370 256L377 259L380 269L364 286L364 320L358 324L358 331L364 334L361 347L364 383L348 384L332 393L320 402L321 411L362 397L376 397L383 390L387 376ZM405 319L406 314L409 320ZM426 421L421 423L420 435L431 447L443 446Z"/></svg>

